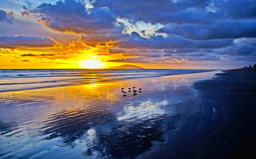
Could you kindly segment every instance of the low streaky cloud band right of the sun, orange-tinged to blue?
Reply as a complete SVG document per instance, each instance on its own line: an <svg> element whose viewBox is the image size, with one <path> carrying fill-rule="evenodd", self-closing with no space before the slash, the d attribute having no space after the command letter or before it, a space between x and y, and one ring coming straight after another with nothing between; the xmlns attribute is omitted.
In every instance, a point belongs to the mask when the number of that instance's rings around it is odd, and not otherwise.
<svg viewBox="0 0 256 159"><path fill-rule="evenodd" d="M237 60L240 56L241 61L248 60L251 56L256 55L255 41L256 38L237 38L229 41L229 45L225 45L222 48L211 48L211 47L196 47L190 48L177 48L177 49L124 49L124 48L112 48L109 50L110 53L123 54L126 57L133 58L122 58L116 59L112 62L172 62L179 61L221 61L222 58ZM215 40L210 40L213 42ZM222 41L222 40L218 40ZM200 41L205 42L205 41ZM214 42L213 42L214 43ZM195 42L196 44L196 42ZM243 56L243 57L242 57ZM144 58L142 58L144 57ZM146 58L147 57L147 58ZM235 58L236 57L236 58ZM253 59L256 59L254 57ZM251 61L251 59L250 59Z"/></svg>

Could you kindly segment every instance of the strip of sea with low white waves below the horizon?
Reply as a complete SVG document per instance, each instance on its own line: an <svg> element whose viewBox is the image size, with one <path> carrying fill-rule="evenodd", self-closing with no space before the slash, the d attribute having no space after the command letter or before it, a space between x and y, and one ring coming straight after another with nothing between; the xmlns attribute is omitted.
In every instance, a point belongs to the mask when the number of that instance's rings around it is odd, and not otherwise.
<svg viewBox="0 0 256 159"><path fill-rule="evenodd" d="M59 87L64 85L107 83L127 79L142 79L179 74L195 74L209 71L213 70L0 70L0 92Z"/></svg>

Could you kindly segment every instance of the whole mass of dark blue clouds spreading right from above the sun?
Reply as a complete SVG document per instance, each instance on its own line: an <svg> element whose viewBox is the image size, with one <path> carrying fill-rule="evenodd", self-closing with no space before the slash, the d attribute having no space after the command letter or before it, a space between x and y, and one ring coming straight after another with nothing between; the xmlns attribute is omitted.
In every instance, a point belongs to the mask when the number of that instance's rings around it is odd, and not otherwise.
<svg viewBox="0 0 256 159"><path fill-rule="evenodd" d="M87 45L111 40L115 42L110 54L141 57L115 62L145 62L144 57L155 61L162 57L247 60L256 50L254 0L97 0L91 8L85 8L84 1L65 0L27 8L24 7L26 14L36 15L48 28L80 33ZM143 26L141 30L131 30L137 22L163 27L145 38Z"/></svg>

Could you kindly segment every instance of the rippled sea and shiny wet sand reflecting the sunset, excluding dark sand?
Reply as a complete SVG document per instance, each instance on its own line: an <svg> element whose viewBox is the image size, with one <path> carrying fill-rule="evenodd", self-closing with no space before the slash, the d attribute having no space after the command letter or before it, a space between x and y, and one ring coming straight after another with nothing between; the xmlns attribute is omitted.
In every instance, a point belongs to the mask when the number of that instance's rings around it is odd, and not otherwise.
<svg viewBox="0 0 256 159"><path fill-rule="evenodd" d="M157 155L220 72L0 70L0 158Z"/></svg>

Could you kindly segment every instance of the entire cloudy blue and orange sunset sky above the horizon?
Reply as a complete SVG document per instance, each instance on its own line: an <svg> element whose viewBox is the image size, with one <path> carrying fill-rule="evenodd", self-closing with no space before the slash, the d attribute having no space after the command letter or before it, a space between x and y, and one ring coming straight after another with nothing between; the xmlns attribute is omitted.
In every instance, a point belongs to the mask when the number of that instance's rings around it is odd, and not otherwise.
<svg viewBox="0 0 256 159"><path fill-rule="evenodd" d="M255 0L0 1L0 68L255 63Z"/></svg>

